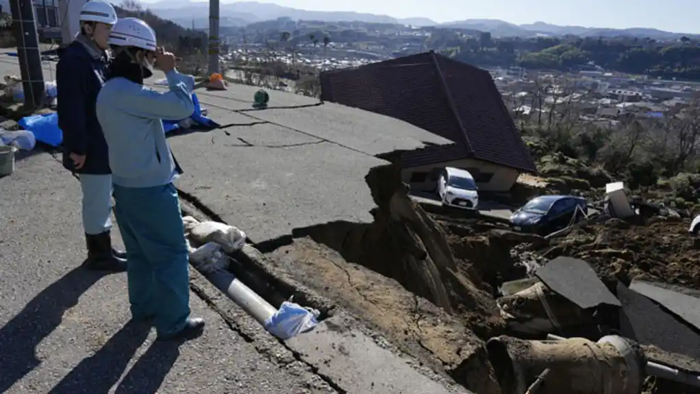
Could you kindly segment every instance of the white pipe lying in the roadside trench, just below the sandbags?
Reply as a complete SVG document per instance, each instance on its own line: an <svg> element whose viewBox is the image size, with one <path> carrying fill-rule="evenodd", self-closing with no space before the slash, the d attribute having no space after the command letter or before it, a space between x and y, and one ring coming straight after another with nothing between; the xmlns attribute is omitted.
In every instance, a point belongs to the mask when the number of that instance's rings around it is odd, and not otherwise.
<svg viewBox="0 0 700 394"><path fill-rule="evenodd" d="M228 297L239 307L243 308L247 314L253 316L258 323L265 325L265 321L276 313L276 309L260 295L236 279L233 274L225 269L217 269L211 272L202 272L216 288L226 293Z"/></svg>

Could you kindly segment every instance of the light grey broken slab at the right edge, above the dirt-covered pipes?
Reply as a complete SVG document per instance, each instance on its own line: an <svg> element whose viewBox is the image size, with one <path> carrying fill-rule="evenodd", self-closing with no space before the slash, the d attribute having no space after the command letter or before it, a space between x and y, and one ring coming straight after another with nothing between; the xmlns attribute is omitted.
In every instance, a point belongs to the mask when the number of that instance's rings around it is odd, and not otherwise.
<svg viewBox="0 0 700 394"><path fill-rule="evenodd" d="M629 285L631 290L636 291L652 300L658 302L663 307L680 316L684 321L700 330L700 298L694 295L684 294L677 286L662 285L661 283L651 283L633 280ZM682 289L678 289L682 290ZM687 292L691 290L687 289ZM697 291L694 291L697 295Z"/></svg>

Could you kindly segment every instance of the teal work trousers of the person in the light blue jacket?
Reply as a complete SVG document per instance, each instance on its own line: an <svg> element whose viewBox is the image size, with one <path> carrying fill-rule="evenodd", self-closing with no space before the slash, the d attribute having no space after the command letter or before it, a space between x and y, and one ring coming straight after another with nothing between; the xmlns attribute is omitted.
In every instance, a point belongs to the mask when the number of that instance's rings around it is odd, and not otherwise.
<svg viewBox="0 0 700 394"><path fill-rule="evenodd" d="M116 218L127 250L134 318L155 317L158 335L182 330L190 316L189 255L177 190L114 185Z"/></svg>

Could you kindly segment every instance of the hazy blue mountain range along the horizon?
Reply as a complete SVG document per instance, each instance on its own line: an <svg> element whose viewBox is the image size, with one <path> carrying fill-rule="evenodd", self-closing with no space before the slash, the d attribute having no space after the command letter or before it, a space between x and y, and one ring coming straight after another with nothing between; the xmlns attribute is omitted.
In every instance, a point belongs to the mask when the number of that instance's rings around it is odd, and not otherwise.
<svg viewBox="0 0 700 394"><path fill-rule="evenodd" d="M209 2L193 2L188 0L165 0L150 3L148 7L153 13L165 19L172 20L185 27L203 29L209 27ZM659 29L632 28L608 29L582 26L559 26L545 22L531 24L512 24L503 20L468 19L455 22L437 23L426 17L395 18L388 15L356 13L353 11L311 11L278 6L273 3L258 3L257 1L240 1L236 3L221 3L221 26L245 26L262 20L274 20L278 17L290 17L293 20L320 20L324 22L358 21L365 23L410 24L419 27L435 26L459 29L489 31L493 36L502 37L533 37L538 35L562 36L636 36L654 39L676 39L681 36L700 37L693 34L680 34Z"/></svg>

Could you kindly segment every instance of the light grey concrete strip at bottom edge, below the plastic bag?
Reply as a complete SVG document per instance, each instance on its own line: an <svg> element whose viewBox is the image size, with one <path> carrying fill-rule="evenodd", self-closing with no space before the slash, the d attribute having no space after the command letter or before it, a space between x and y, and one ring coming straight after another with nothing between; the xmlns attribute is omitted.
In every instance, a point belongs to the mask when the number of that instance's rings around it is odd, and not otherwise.
<svg viewBox="0 0 700 394"><path fill-rule="evenodd" d="M350 328L341 316L322 321L314 331L287 344L309 363L318 365L318 372L346 393L470 393L458 386L445 388L420 374L362 331Z"/></svg>

